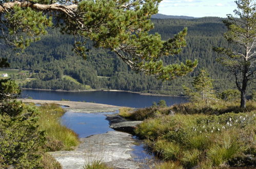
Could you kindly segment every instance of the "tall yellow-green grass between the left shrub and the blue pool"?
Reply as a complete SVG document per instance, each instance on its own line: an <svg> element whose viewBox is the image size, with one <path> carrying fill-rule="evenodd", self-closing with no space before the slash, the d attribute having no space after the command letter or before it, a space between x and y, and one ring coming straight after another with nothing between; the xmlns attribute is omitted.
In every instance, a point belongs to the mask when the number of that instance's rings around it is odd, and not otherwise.
<svg viewBox="0 0 256 169"><path fill-rule="evenodd" d="M77 135L61 124L65 111L57 104L43 104L40 110L38 124L46 132L48 151L72 150L78 145Z"/></svg>

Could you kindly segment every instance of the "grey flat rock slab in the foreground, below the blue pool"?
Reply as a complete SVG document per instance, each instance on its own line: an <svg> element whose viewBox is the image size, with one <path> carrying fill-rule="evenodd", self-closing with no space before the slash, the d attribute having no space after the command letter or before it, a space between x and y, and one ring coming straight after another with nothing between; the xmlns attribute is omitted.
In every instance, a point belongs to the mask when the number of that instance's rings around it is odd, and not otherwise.
<svg viewBox="0 0 256 169"><path fill-rule="evenodd" d="M111 131L81 139L74 151L51 152L63 168L83 168L93 160L101 160L114 168L140 168L140 163L131 156L134 140L132 135Z"/></svg>

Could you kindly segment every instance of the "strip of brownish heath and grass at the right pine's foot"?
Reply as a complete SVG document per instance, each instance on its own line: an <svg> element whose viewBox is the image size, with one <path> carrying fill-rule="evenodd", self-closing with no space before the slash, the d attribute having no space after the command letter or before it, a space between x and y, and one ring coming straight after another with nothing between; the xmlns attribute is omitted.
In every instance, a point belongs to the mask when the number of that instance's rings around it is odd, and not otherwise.
<svg viewBox="0 0 256 169"><path fill-rule="evenodd" d="M175 104L171 107L149 107L135 110L129 113L120 113L121 116L131 120L144 120L148 118L155 118L160 115L174 115L174 114L205 114L205 115L221 115L225 113L248 113L256 112L256 101L249 100L246 103L246 109L240 108L239 102L230 102L225 100L212 101L207 106L205 103L181 103Z"/></svg>

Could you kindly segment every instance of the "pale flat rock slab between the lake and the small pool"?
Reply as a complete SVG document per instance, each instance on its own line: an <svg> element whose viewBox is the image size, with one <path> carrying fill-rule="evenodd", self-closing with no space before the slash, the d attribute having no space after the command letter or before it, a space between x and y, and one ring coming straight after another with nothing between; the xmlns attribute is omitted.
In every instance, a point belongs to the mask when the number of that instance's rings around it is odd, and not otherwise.
<svg viewBox="0 0 256 169"><path fill-rule="evenodd" d="M35 104L55 103L64 105L66 111L79 113L96 113L96 112L115 112L121 107L108 104L79 102L79 101L58 101L58 100L34 100L34 99L19 99L23 102L33 102Z"/></svg>

